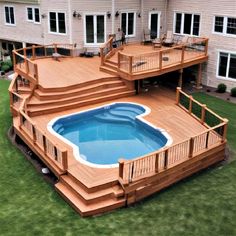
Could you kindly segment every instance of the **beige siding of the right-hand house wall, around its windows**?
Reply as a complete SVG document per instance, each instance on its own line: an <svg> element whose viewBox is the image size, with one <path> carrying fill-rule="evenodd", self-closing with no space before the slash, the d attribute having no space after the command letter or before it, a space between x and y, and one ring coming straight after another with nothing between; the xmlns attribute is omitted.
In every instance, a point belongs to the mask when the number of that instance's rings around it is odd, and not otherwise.
<svg viewBox="0 0 236 236"><path fill-rule="evenodd" d="M209 38L209 60L205 66L203 84L217 87L219 83L225 83L227 90L236 87L236 80L226 80L217 78L218 50L236 52L236 36L223 36L213 33L214 16L236 17L236 1L188 1L188 0L169 0L167 27L173 30L174 11L187 13L200 13L201 25L200 36Z"/></svg>

